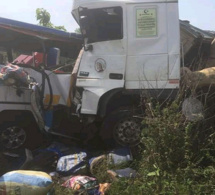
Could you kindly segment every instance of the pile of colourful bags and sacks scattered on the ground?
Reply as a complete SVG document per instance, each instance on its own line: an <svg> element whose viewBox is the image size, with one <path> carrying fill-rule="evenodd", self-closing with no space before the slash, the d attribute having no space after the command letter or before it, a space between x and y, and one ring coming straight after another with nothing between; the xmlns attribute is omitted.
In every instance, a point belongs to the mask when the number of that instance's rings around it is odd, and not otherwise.
<svg viewBox="0 0 215 195"><path fill-rule="evenodd" d="M128 147L101 153L52 143L33 153L26 150L25 154L26 158L21 166L17 165L19 167L14 167L16 170L0 177L0 194L52 195L55 194L54 186L57 183L76 194L102 195L109 189L111 181L137 175L131 168L119 169L121 165L128 166L133 160ZM5 155L19 158L10 153ZM98 173L106 174L109 181L99 183Z"/></svg>

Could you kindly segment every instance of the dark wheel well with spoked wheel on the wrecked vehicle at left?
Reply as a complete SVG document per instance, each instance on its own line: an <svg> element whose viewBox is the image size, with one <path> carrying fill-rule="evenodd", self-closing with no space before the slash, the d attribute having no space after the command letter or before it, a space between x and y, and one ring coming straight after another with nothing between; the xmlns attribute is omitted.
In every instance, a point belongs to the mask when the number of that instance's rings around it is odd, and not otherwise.
<svg viewBox="0 0 215 195"><path fill-rule="evenodd" d="M0 113L0 150L35 150L47 142L46 134L40 131L31 112L10 110Z"/></svg>

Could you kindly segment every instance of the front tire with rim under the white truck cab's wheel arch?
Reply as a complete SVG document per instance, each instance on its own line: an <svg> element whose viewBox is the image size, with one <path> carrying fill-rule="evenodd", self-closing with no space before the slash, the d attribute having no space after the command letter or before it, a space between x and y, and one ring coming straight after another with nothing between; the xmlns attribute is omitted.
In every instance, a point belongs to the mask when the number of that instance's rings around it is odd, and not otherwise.
<svg viewBox="0 0 215 195"><path fill-rule="evenodd" d="M120 108L111 113L102 124L100 135L108 146L135 146L140 143L142 119L131 108Z"/></svg>

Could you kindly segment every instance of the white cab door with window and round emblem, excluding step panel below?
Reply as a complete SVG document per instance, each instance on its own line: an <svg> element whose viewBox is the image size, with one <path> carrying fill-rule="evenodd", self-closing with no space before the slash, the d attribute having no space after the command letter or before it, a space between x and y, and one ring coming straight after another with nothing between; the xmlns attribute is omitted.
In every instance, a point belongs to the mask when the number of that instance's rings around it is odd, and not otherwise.
<svg viewBox="0 0 215 195"><path fill-rule="evenodd" d="M123 8L87 9L87 13L87 27L83 31L93 49L84 52L78 78L101 79L102 82L123 80L127 43L123 30ZM123 87L124 82L120 85Z"/></svg>

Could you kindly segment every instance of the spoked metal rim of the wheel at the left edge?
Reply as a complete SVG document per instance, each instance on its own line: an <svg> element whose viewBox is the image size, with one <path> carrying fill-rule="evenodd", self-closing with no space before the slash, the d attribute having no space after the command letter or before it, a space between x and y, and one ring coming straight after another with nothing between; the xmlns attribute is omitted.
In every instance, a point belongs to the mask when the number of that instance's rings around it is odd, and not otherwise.
<svg viewBox="0 0 215 195"><path fill-rule="evenodd" d="M0 139L5 148L16 149L24 144L26 133L21 127L11 126L2 131Z"/></svg>

